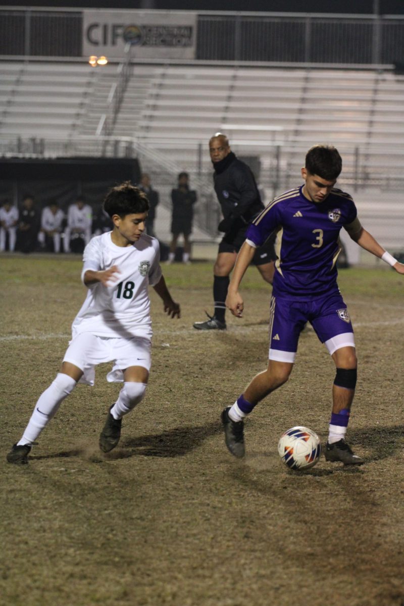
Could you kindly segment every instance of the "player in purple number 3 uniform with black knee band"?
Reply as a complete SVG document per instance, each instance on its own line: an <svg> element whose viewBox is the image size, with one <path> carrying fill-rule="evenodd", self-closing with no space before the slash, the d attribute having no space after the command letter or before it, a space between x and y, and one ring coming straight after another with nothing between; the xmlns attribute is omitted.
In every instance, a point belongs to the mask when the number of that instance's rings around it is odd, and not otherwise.
<svg viewBox="0 0 404 606"><path fill-rule="evenodd" d="M253 378L233 406L222 412L225 442L236 457L245 454L243 419L258 402L288 380L300 332L310 322L336 365L325 458L345 465L364 462L345 441L356 387L357 358L353 327L337 285L340 229L345 228L357 244L382 258L398 273L404 274L404 264L363 229L351 196L334 187L341 170L342 159L336 148L312 147L302 168L305 184L268 204L248 228L247 239L237 257L226 305L240 318L243 312L240 282L256 247L277 231L268 368Z"/></svg>

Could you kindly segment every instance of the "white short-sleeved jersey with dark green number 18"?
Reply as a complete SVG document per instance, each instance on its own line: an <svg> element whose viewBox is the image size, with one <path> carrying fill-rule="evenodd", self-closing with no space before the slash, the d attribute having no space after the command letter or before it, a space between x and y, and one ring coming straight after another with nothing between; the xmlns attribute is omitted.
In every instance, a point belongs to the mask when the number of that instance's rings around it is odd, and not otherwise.
<svg viewBox="0 0 404 606"><path fill-rule="evenodd" d="M87 270L119 268L119 282L90 285L73 321L73 338L80 333L110 338L151 337L148 285L159 282L160 248L156 238L142 234L131 246L116 246L111 231L93 238L84 249L82 279Z"/></svg>

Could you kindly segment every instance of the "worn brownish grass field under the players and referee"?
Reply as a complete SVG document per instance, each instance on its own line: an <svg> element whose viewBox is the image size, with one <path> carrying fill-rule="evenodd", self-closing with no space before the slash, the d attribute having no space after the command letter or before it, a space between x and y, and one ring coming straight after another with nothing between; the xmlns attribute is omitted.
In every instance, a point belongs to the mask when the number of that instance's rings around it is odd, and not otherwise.
<svg viewBox="0 0 404 606"><path fill-rule="evenodd" d="M153 307L145 400L119 447L98 450L116 385L109 365L79 385L33 448L5 462L58 371L85 295L79 259L0 257L1 606L403 606L404 279L340 272L359 380L349 441L366 459L293 472L281 433L326 440L333 363L302 334L290 381L246 423L247 456L227 452L219 415L267 364L270 288L248 271L242 320L192 328L211 311L211 264L164 267L182 318Z"/></svg>

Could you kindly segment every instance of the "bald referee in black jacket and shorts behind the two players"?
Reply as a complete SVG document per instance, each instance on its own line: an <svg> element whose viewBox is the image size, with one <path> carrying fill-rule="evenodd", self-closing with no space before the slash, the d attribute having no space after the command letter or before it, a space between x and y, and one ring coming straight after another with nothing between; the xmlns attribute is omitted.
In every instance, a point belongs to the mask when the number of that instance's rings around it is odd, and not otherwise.
<svg viewBox="0 0 404 606"><path fill-rule="evenodd" d="M247 227L263 210L264 205L251 168L234 155L226 135L216 133L209 141L209 151L214 168L214 190L224 216L217 228L224 231L224 236L213 267L214 315L207 314L209 319L205 322L195 322L194 328L225 330L225 301L229 275L236 263L237 253L245 241ZM270 239L257 248L253 259L253 265L257 266L262 278L270 284L273 281L276 258L274 242Z"/></svg>

